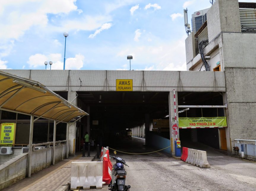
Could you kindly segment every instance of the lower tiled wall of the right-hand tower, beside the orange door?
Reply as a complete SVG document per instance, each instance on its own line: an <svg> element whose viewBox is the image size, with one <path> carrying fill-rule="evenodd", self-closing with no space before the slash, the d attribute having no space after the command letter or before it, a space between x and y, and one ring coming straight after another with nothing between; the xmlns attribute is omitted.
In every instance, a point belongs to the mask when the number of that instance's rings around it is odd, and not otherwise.
<svg viewBox="0 0 256 191"><path fill-rule="evenodd" d="M234 139L256 140L256 69L226 68L228 125Z"/></svg>

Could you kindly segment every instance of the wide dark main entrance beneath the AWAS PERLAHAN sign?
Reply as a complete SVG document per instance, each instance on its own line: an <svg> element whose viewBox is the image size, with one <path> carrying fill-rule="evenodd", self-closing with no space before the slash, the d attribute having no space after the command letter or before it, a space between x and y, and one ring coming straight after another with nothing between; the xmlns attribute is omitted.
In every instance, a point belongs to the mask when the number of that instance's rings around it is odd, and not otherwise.
<svg viewBox="0 0 256 191"><path fill-rule="evenodd" d="M145 115L164 119L168 115L169 92L77 92L78 102L87 107L90 121L78 123L77 143L89 123L90 137L96 144L115 145L127 140L127 130L145 123ZM166 119L166 118L165 118ZM168 118L167 118L168 119ZM167 136L170 139L169 133ZM77 150L79 145L77 144ZM121 144L121 143L120 143ZM142 146L142 145L141 145Z"/></svg>

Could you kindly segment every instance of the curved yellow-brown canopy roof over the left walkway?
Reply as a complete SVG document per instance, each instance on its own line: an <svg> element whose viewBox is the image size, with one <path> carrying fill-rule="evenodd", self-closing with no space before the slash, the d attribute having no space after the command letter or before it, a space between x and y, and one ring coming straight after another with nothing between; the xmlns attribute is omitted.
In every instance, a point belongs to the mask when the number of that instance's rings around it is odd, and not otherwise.
<svg viewBox="0 0 256 191"><path fill-rule="evenodd" d="M0 71L0 109L68 123L89 115L39 82Z"/></svg>

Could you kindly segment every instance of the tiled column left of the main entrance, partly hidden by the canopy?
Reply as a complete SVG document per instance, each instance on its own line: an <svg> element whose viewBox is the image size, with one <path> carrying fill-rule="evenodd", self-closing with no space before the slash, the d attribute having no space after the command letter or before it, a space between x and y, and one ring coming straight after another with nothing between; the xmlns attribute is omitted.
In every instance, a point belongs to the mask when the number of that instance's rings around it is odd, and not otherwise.
<svg viewBox="0 0 256 191"><path fill-rule="evenodd" d="M68 101L72 102L72 104L77 105L76 100L76 92L75 91L69 91L68 92ZM72 124L69 126L69 155L74 156L75 155L75 141L76 141L76 126L77 123Z"/></svg>

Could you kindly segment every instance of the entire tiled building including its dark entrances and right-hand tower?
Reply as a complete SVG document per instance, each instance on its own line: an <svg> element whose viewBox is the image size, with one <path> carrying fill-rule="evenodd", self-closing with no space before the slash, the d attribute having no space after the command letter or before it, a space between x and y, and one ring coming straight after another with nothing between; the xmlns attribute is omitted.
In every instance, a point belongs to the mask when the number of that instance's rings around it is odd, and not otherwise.
<svg viewBox="0 0 256 191"><path fill-rule="evenodd" d="M256 4L249 4L250 7ZM186 60L188 71L109 71L109 70L3 70L24 78L39 81L55 92L67 92L67 100L90 114L90 105L82 103L77 92L116 92L117 79L132 79L132 92L166 92L168 100L169 128L171 145L174 145L175 135L171 133L174 124L174 95L176 91L176 108L185 105L187 99L196 99L197 105L203 105L208 100L208 105L226 105L222 110L227 118L225 128L225 143L229 152L235 146L234 139L256 139L256 64L255 43L256 33L244 32L241 28L240 9L246 9L246 3L238 3L237 0L217 0L207 12L207 23L198 30L192 32L186 39ZM256 27L256 26L255 26ZM196 47L197 42L206 42L204 55L210 56L208 60L210 71L198 71L202 66L202 58ZM203 67L202 67L203 68ZM218 68L219 70L216 70ZM215 70L214 70L215 69ZM199 93L205 93L200 97ZM214 93L212 96L211 93ZM180 97L179 97L180 96ZM193 97L192 97L193 96ZM212 97L211 97L212 96ZM220 97L217 102L214 97ZM124 99L125 95L122 95ZM153 96L154 97L154 96ZM144 97L143 97L144 99ZM151 98L152 99L152 98ZM99 98L99 102L101 96ZM179 100L179 101L178 101ZM144 100L143 100L144 101ZM192 100L193 101L193 100ZM129 105L129 103L128 103ZM193 116L203 116L203 110L195 111ZM217 113L208 111L208 117L218 116ZM185 114L183 114L185 115ZM84 121L84 130L90 132L90 116ZM143 137L152 126L150 115L145 111L141 124L131 127L133 135ZM177 114L177 121L179 114ZM1 118L0 118L1 120ZM91 119L93 120L93 119ZM130 119L133 120L133 119ZM0 121L1 122L1 121ZM76 136L79 129L77 125L69 128L69 152L74 154ZM206 131L205 131L206 132ZM183 133L188 133L184 132ZM192 142L197 141L202 134L197 130L191 130ZM82 135L83 136L83 135ZM220 136L216 134L216 136ZM179 135L178 135L179 138ZM216 140L219 142L219 138ZM221 143L216 148L222 148ZM174 153L174 148L171 150Z"/></svg>

